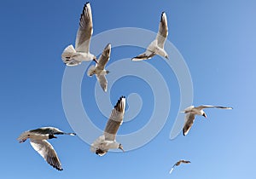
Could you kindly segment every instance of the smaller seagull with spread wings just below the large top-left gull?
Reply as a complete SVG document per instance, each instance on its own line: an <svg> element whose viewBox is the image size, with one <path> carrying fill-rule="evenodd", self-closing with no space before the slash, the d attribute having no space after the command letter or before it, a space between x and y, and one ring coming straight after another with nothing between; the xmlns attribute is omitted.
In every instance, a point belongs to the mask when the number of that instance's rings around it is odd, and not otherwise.
<svg viewBox="0 0 256 179"><path fill-rule="evenodd" d="M111 44L108 43L108 45L103 50L102 55L99 58L96 66L90 66L90 68L87 72L87 75L90 77L92 75L96 74L96 78L97 78L98 82L101 84L102 90L104 90L105 92L107 92L107 90L108 90L108 81L105 76L109 72L108 70L105 70L105 66L109 61L110 53L111 53Z"/></svg>

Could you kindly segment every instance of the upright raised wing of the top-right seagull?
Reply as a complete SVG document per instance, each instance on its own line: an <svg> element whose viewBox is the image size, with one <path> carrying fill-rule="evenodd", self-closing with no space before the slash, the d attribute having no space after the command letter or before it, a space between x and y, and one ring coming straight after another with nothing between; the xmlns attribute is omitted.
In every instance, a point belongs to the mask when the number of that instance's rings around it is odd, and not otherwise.
<svg viewBox="0 0 256 179"><path fill-rule="evenodd" d="M164 45L166 43L167 36L168 36L168 26L167 26L166 13L162 12L159 30L156 36L157 44L162 49L164 48Z"/></svg>

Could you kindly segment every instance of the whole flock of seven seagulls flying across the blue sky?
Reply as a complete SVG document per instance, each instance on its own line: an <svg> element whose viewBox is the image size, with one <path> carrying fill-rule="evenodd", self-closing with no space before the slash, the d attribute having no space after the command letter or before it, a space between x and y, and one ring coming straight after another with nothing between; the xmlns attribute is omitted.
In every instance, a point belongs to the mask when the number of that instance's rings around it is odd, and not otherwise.
<svg viewBox="0 0 256 179"><path fill-rule="evenodd" d="M78 66L82 61L95 61L95 66L90 66L87 75L96 75L97 81L102 86L102 90L105 92L108 90L108 80L106 75L108 70L105 69L106 64L109 61L111 53L111 44L108 43L105 49L102 51L102 55L99 59L96 59L96 55L90 54L90 38L93 33L92 26L92 14L90 3L84 4L84 9L79 21L79 30L77 32L75 47L72 44L68 45L64 49L61 59L67 66ZM151 59L154 55L161 55L168 59L166 50L164 49L164 44L168 35L168 26L166 13L163 12L160 17L159 31L156 38L152 43L148 45L146 51L132 58L132 61L143 61ZM183 136L188 135L194 121L195 115L203 116L207 118L207 114L203 111L205 108L220 108L220 109L232 109L232 107L219 107L219 106L209 106L202 105L199 107L190 106L183 110L181 113L186 113L185 121L183 124ZM99 156L103 156L108 153L109 149L120 149L123 152L123 146L121 143L115 140L119 126L123 123L123 118L125 115L125 96L120 96L116 105L111 111L110 117L106 124L104 133L99 136L91 145L90 151L96 153ZM55 127L43 127L36 130L27 130L23 132L19 137L18 141L24 142L26 139L30 139L30 144L32 147L44 158L44 160L56 170L63 170L61 167L61 161L55 152L54 147L49 143L49 139L57 138L56 135L69 135L76 136L75 133L66 133ZM175 166L181 164L189 164L188 160L179 160L172 166L170 173Z"/></svg>

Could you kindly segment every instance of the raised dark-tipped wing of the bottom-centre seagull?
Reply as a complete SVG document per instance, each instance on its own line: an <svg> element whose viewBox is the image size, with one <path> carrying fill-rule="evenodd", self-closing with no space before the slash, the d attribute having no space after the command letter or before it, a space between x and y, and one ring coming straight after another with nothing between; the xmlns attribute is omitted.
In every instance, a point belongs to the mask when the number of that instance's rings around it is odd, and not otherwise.
<svg viewBox="0 0 256 179"><path fill-rule="evenodd" d="M125 96L121 96L119 101L114 106L110 117L108 118L108 123L104 130L105 140L114 141L117 131L119 130L120 124L123 123L123 118L125 114Z"/></svg>

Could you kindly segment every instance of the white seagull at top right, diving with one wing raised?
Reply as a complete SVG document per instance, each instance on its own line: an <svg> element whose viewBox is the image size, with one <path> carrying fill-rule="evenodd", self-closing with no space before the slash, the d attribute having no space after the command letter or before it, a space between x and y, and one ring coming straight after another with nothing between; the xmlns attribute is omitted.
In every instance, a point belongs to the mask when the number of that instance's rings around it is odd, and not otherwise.
<svg viewBox="0 0 256 179"><path fill-rule="evenodd" d="M168 54L166 53L166 50L164 49L164 45L166 43L166 38L168 35L168 26L167 26L167 18L166 13L163 12L161 14L161 20L159 25L159 30L157 33L156 38L152 43L148 45L147 50L141 54L137 55L136 57L132 58L132 61L143 61L151 59L154 55L161 55L168 59Z"/></svg>

